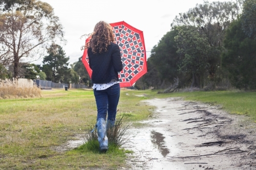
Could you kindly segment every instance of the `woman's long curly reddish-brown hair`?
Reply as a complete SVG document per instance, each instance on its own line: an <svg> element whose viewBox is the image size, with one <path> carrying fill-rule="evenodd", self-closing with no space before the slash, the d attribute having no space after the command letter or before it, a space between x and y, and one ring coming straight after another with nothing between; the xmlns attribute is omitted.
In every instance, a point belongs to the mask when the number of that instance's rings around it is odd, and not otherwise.
<svg viewBox="0 0 256 170"><path fill-rule="evenodd" d="M109 23L99 21L94 27L91 40L83 48L91 47L93 54L101 54L108 51L108 46L114 41L114 34Z"/></svg>

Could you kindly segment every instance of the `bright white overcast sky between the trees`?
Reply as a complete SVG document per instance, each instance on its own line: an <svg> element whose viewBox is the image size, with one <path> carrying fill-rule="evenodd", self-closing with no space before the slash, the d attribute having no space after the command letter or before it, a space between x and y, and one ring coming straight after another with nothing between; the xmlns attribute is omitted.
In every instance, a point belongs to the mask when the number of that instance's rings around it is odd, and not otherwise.
<svg viewBox="0 0 256 170"><path fill-rule="evenodd" d="M92 33L95 24L100 20L108 23L125 21L143 31L146 51L151 51L170 30L170 23L176 15L194 8L196 4L204 3L203 0L41 1L49 3L54 8L55 15L60 18L67 40L66 45L60 45L70 57L70 63L78 61L83 54L80 47L85 43L85 38L79 39L80 36ZM148 57L150 52L147 52Z"/></svg>

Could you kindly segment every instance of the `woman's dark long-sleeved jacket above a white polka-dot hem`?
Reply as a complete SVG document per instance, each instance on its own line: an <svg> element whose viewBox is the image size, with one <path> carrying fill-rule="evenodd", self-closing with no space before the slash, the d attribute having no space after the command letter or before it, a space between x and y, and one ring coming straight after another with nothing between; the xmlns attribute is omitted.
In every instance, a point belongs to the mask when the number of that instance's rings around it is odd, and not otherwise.
<svg viewBox="0 0 256 170"><path fill-rule="evenodd" d="M101 54L93 54L92 48L88 48L89 66L93 70L92 83L109 83L112 79L118 79L118 72L123 69L119 46L113 42L108 46L108 51Z"/></svg>

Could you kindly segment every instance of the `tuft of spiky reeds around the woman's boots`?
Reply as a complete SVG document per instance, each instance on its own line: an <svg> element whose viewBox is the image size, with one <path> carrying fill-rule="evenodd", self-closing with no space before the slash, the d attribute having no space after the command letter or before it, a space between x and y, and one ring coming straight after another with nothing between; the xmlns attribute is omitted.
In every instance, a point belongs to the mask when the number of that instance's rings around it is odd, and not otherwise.
<svg viewBox="0 0 256 170"><path fill-rule="evenodd" d="M127 130L130 128L130 124L124 123L126 115L125 114L117 114L115 125L110 127L106 136L109 139L109 144L114 144L117 148L120 148L123 144L129 142L130 137L126 134ZM86 135L84 137L84 142L97 141L97 128L93 132L92 129L94 126L92 125L90 129L87 130Z"/></svg>

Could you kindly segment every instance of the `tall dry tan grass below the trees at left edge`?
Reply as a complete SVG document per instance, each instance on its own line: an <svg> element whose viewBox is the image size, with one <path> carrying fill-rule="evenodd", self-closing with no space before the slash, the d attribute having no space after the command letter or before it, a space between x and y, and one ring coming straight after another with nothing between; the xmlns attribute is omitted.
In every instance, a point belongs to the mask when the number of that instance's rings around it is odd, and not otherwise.
<svg viewBox="0 0 256 170"><path fill-rule="evenodd" d="M0 80L0 99L34 98L41 96L36 85L33 87L18 87L17 80Z"/></svg>

